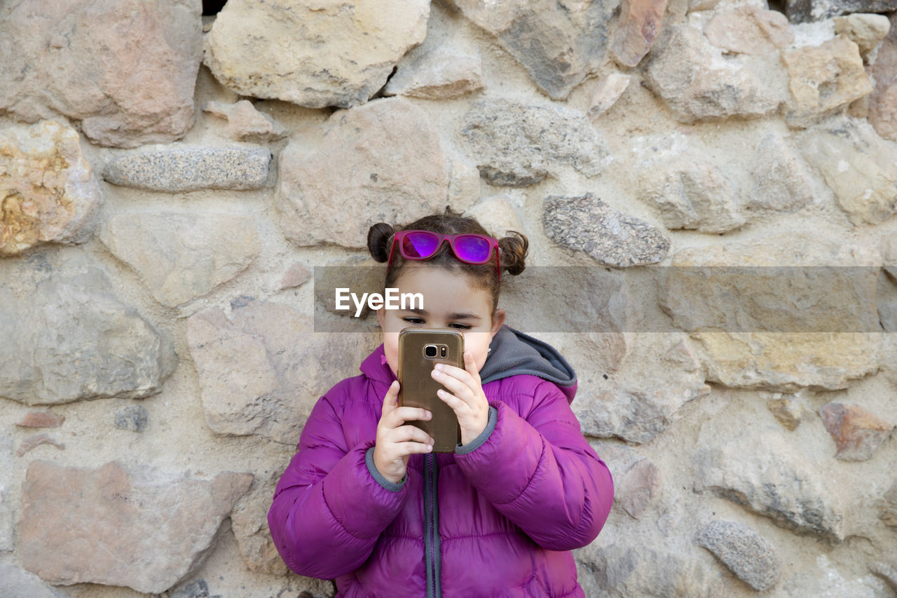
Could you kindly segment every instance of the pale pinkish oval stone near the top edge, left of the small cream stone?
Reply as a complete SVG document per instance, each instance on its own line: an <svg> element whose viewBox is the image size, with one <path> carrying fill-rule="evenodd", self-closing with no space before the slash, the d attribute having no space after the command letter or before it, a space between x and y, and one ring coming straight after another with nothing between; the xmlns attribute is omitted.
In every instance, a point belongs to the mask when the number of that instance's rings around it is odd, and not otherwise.
<svg viewBox="0 0 897 598"><path fill-rule="evenodd" d="M784 14L756 6L719 13L704 27L704 35L714 46L739 54L765 54L794 41Z"/></svg>

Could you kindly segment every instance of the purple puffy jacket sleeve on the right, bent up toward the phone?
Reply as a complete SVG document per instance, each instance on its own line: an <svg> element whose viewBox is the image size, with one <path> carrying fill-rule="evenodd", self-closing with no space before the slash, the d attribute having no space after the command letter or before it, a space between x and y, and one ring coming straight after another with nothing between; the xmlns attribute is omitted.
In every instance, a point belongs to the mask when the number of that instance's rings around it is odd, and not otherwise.
<svg viewBox="0 0 897 598"><path fill-rule="evenodd" d="M605 462L552 383L536 387L526 418L492 402L494 427L457 449L455 461L501 514L547 550L572 550L597 538L614 501Z"/></svg>

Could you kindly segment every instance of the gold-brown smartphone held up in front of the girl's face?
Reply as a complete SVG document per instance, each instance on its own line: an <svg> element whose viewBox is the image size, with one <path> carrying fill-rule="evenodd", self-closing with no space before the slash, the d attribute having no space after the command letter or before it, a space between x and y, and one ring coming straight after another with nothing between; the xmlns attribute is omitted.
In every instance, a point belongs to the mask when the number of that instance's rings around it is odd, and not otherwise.
<svg viewBox="0 0 897 598"><path fill-rule="evenodd" d="M408 423L421 428L433 439L433 453L454 453L461 443L457 416L436 396L446 390L433 380L433 365L449 364L464 369L464 335L443 328L405 328L398 335L398 404L421 407L433 414L430 420Z"/></svg>

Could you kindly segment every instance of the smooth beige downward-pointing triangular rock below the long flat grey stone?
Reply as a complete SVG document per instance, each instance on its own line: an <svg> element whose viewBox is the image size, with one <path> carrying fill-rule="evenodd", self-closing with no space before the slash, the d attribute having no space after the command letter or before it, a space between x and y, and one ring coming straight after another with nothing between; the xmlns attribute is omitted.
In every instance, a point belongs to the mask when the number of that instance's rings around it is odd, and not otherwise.
<svg viewBox="0 0 897 598"><path fill-rule="evenodd" d="M222 213L121 212L109 217L100 239L169 307L231 280L260 251L252 216Z"/></svg>

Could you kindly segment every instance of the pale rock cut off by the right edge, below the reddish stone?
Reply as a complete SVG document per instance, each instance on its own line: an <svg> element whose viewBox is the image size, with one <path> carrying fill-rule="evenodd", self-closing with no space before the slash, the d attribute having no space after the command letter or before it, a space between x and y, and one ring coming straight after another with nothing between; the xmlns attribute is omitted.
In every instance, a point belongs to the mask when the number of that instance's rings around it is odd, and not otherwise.
<svg viewBox="0 0 897 598"><path fill-rule="evenodd" d="M835 121L801 136L806 161L823 175L853 224L879 224L897 211L897 151L867 124Z"/></svg>

